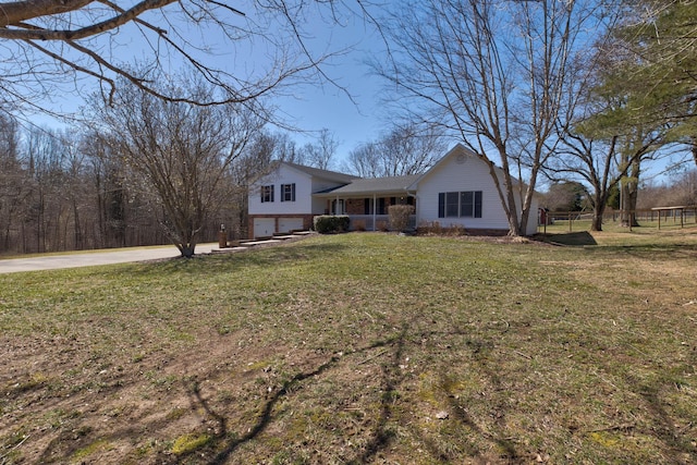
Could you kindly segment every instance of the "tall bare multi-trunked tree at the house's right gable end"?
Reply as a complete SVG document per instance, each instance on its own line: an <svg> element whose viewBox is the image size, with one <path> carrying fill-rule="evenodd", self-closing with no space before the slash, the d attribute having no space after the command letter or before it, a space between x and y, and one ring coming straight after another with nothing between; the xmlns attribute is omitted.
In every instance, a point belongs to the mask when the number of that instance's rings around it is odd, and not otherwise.
<svg viewBox="0 0 697 465"><path fill-rule="evenodd" d="M604 7L407 1L391 19L393 62L377 71L407 97L407 111L442 122L489 166L511 235L526 231L539 170L553 152L547 144L560 111L574 102L568 87L583 82L572 79L583 73L576 57L586 52L588 30L607 34Z"/></svg>

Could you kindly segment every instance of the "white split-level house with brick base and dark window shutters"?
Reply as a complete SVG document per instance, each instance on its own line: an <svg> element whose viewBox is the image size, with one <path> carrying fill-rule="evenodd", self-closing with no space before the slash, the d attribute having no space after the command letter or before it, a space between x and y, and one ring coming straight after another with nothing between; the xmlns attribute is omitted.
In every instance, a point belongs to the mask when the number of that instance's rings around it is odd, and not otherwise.
<svg viewBox="0 0 697 465"><path fill-rule="evenodd" d="M503 185L502 175L500 182ZM249 234L309 229L315 216L330 213L347 215L352 229L382 229L388 207L399 204L415 206L416 225L438 222L467 231L509 231L489 167L458 144L420 175L360 179L279 162L249 189ZM537 209L534 199L527 235L537 231Z"/></svg>

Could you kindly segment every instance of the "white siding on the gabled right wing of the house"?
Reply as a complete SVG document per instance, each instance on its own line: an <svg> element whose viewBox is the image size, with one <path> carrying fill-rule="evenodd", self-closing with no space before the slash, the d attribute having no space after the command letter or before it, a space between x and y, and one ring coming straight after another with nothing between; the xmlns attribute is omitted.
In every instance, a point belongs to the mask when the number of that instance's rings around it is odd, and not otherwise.
<svg viewBox="0 0 697 465"><path fill-rule="evenodd" d="M417 221L438 221L442 227L508 230L509 222L489 167L475 156L466 155L463 163L457 154L442 160L418 182ZM438 194L442 192L481 191L481 218L438 218Z"/></svg>

